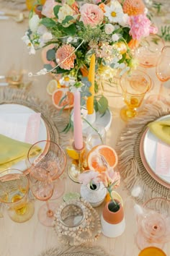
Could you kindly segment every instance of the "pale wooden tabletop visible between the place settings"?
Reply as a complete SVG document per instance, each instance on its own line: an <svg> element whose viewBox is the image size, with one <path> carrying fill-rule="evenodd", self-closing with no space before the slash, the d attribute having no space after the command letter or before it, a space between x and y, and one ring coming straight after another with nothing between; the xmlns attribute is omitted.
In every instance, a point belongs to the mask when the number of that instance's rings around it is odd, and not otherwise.
<svg viewBox="0 0 170 256"><path fill-rule="evenodd" d="M22 23L16 23L12 19L0 20L0 75L6 74L12 64L16 68L22 67L25 72L37 72L42 69L40 51L35 56L30 56L27 47L21 40L26 30L27 20ZM158 93L160 82L156 78L155 70L150 69L148 72L154 80L154 88L150 94ZM50 75L35 77L31 88L33 95L49 103L51 103L51 99L46 93L46 86L50 79ZM125 123L120 119L119 114L124 103L121 97L108 99L112 111L112 125L107 132L107 144L114 148L121 129L125 127ZM79 189L80 184L72 182L69 178L66 179L66 192L79 192ZM102 235L94 245L103 247L112 256L138 256L139 249L135 243L137 226L133 210L135 202L130 199L123 181L121 181L117 192L120 193L125 202L125 232L116 239L109 239ZM62 198L56 200L56 202L62 202ZM4 218L0 218L0 256L38 256L45 249L61 246L53 229L42 226L38 221L37 210L40 205L42 205L42 202L35 201L35 214L30 221L25 223L13 222L6 213ZM97 208L99 214L102 208L103 205ZM166 244L164 251L167 255L170 255L170 243Z"/></svg>

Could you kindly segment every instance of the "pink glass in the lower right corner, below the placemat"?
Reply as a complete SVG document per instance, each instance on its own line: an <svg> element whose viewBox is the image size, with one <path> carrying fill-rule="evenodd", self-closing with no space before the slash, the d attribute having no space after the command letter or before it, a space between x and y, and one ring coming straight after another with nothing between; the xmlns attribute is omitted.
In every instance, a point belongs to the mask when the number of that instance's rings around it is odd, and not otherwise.
<svg viewBox="0 0 170 256"><path fill-rule="evenodd" d="M136 242L140 249L162 248L170 239L170 201L155 197L145 202L137 224Z"/></svg>

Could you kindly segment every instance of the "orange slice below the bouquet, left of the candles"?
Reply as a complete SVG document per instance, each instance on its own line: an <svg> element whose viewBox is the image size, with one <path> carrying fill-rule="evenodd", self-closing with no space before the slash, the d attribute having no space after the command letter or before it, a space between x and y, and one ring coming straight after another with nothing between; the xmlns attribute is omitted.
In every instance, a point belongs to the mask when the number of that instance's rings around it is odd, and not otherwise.
<svg viewBox="0 0 170 256"><path fill-rule="evenodd" d="M68 88L55 90L52 95L52 101L56 108L64 109L73 108L73 93Z"/></svg>

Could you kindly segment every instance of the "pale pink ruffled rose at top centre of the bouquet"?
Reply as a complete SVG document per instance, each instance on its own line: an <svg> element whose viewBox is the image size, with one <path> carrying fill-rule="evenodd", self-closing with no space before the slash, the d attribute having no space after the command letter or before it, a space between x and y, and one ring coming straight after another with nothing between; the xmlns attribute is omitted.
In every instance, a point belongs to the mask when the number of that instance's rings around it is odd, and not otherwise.
<svg viewBox="0 0 170 256"><path fill-rule="evenodd" d="M95 4L84 4L80 8L80 12L80 20L84 22L84 25L91 25L91 27L95 27L103 21L104 13L102 12L102 9Z"/></svg>

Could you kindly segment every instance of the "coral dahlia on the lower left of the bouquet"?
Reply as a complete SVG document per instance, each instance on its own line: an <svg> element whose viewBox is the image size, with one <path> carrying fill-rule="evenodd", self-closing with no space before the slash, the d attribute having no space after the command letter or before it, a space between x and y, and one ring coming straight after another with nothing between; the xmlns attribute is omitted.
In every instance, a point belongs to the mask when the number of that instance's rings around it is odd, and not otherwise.
<svg viewBox="0 0 170 256"><path fill-rule="evenodd" d="M76 54L73 53L74 50L75 48L70 44L58 48L55 58L61 69L70 70L74 67L74 59L76 59Z"/></svg>

